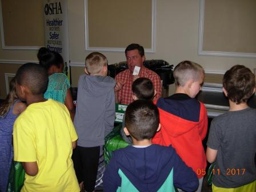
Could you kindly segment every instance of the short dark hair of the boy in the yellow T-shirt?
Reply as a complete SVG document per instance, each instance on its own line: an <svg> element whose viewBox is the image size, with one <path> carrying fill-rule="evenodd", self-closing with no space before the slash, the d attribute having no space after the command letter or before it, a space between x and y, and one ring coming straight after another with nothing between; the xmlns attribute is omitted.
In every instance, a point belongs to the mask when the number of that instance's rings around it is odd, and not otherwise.
<svg viewBox="0 0 256 192"><path fill-rule="evenodd" d="M35 63L25 63L16 73L18 85L26 85L33 95L45 93L48 86L46 69Z"/></svg>

